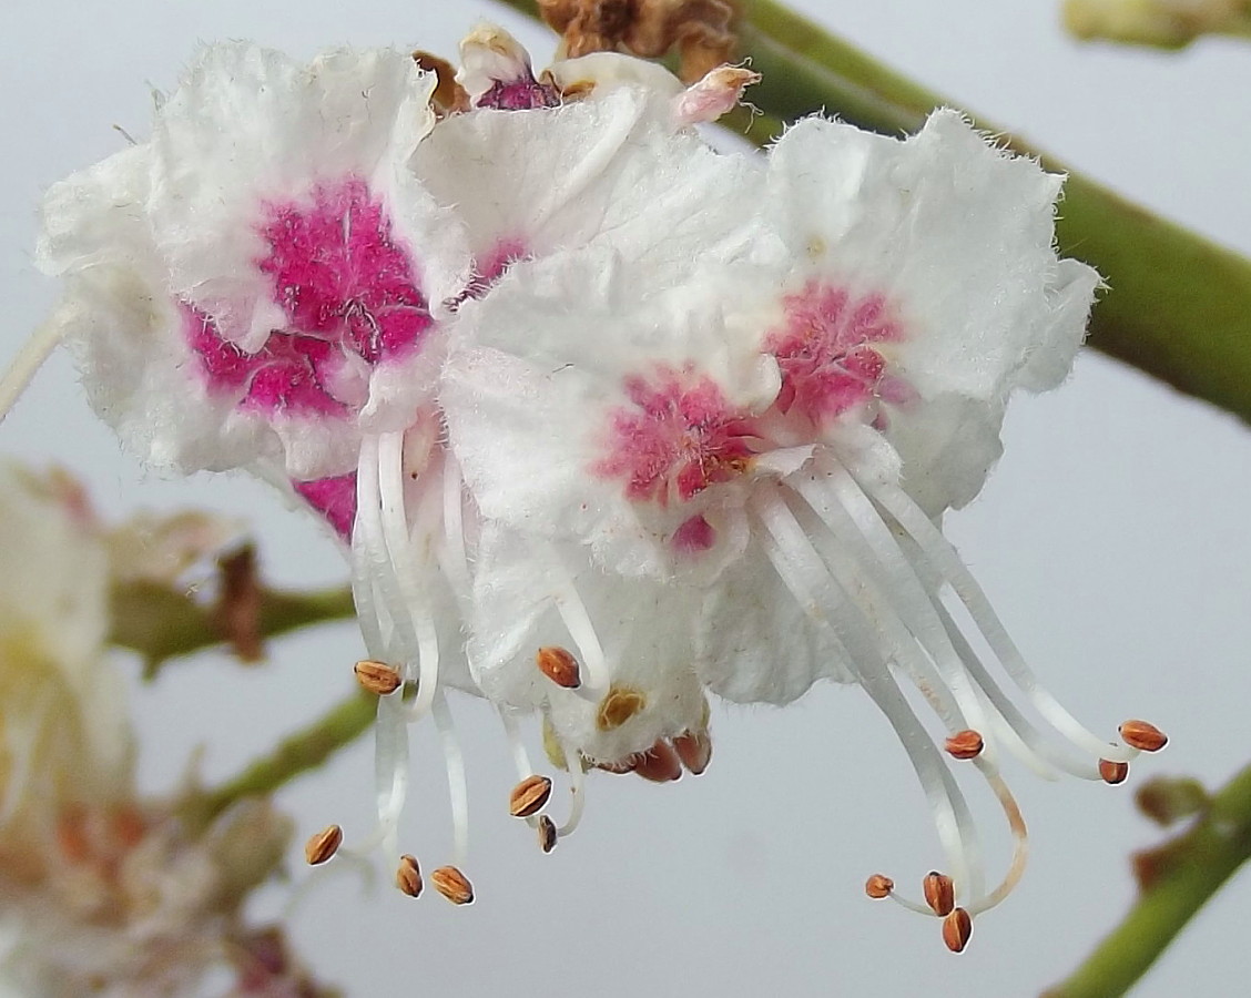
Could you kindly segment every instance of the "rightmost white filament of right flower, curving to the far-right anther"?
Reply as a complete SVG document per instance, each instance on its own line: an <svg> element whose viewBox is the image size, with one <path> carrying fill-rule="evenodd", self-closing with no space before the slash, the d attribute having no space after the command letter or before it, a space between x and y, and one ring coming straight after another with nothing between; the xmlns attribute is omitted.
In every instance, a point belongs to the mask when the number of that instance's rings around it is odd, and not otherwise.
<svg viewBox="0 0 1251 998"><path fill-rule="evenodd" d="M1060 702L1040 685L1037 677L1026 664L1007 629L1000 622L990 600L972 573L942 532L912 499L897 485L859 481L864 491L886 509L921 548L931 564L943 575L948 585L965 604L986 643L995 652L1005 672L1012 678L1038 713L1060 734L1096 758L1128 762L1136 752L1127 745L1116 745L1087 730Z"/></svg>

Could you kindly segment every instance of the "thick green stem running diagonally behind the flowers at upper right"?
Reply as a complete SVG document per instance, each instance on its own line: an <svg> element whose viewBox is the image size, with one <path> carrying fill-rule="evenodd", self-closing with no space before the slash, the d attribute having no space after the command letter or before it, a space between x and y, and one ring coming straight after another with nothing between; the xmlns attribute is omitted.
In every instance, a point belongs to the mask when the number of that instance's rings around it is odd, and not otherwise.
<svg viewBox="0 0 1251 998"><path fill-rule="evenodd" d="M533 0L502 3L537 16ZM826 109L896 135L953 105L773 0L748 0L741 36L743 55L764 76L749 100L783 120ZM986 120L978 125L1002 134ZM758 126L753 138L767 134ZM1251 420L1251 260L1041 159L1068 174L1056 224L1061 250L1096 266L1108 284L1091 346Z"/></svg>

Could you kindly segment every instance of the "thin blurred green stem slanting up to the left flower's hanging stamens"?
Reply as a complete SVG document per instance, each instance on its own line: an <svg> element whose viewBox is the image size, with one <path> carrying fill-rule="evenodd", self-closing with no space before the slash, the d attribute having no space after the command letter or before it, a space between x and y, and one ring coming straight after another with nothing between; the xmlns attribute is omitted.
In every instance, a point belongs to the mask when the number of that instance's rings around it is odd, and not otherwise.
<svg viewBox="0 0 1251 998"><path fill-rule="evenodd" d="M188 820L203 828L236 800L268 797L301 773L315 769L369 730L377 709L377 697L353 694L309 727L283 739L269 755L251 763L236 777L213 790L193 795L186 804Z"/></svg>

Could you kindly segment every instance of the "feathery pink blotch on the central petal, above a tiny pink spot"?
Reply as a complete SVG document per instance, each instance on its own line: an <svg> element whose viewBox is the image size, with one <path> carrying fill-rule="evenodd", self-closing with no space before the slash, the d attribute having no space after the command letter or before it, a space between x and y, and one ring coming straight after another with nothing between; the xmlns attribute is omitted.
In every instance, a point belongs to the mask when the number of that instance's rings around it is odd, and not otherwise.
<svg viewBox="0 0 1251 998"><path fill-rule="evenodd" d="M628 376L626 394L632 406L612 414L609 455L594 471L624 478L631 499L667 507L671 499L686 502L747 470L754 440L751 416L733 408L707 375L689 365L662 365L651 380ZM701 529L689 527L688 539L698 540Z"/></svg>

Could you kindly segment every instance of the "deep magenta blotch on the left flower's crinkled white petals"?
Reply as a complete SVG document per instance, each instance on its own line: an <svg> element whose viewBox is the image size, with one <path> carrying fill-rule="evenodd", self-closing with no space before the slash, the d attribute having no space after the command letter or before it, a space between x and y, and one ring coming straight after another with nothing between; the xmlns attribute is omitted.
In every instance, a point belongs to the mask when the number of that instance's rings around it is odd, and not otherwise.
<svg viewBox="0 0 1251 998"><path fill-rule="evenodd" d="M369 365L420 346L433 324L408 253L369 188L349 176L313 189L310 204L268 205L256 268L286 315L255 353L221 339L211 318L184 305L186 336L211 390L243 389L240 405L345 415L334 375L353 356Z"/></svg>

